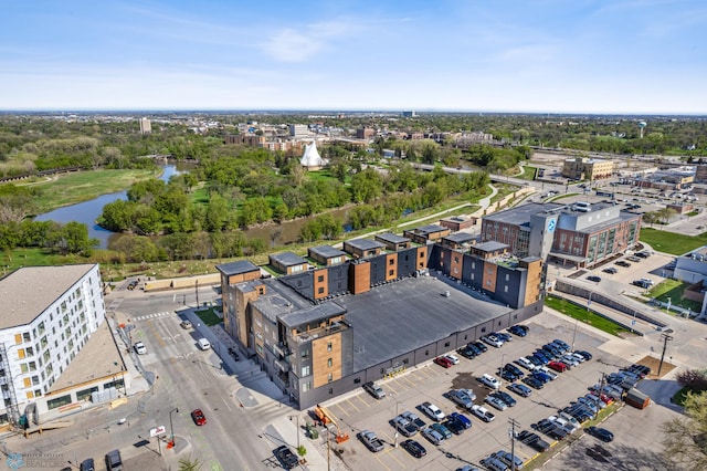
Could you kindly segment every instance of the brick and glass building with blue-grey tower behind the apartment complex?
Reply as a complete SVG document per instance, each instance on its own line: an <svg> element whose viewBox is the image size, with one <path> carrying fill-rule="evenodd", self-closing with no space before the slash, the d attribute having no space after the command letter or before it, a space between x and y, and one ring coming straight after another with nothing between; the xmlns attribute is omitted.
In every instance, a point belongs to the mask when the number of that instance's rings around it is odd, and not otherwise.
<svg viewBox="0 0 707 471"><path fill-rule="evenodd" d="M482 219L482 241L518 257L592 266L639 241L641 214L613 203L527 203Z"/></svg>

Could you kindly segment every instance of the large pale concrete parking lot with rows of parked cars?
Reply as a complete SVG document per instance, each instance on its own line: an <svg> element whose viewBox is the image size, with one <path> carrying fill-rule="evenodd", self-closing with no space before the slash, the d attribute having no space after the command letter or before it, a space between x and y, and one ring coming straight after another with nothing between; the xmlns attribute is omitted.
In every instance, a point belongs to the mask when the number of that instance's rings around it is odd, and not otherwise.
<svg viewBox="0 0 707 471"><path fill-rule="evenodd" d="M558 408L569 405L578 396L588 393L590 385L600 381L602 373L609 374L627 365L629 362L609 355L599 349L603 339L594 337L587 332L577 329L571 324L562 323L555 328L546 328L542 325L530 322L530 332L526 337L513 337L513 342L506 343L500 348L489 347L488 352L474 359L460 357L460 364L451 368L443 368L430 363L419 368L413 368L398 377L386 381L379 381L387 393L381 400L374 399L362 389L344 398L339 398L327 405L331 415L338 421L341 431L349 433L350 440L336 444L335 452L351 469L440 469L455 470L464 464L479 465L479 460L489 453L506 450L510 451L509 428L510 419L516 421L516 431L529 430L530 425L547 418L558 411ZM528 398L521 398L511 393L517 399L515 407L499 411L485 405L496 416L495 420L486 423L468 412L464 412L472 419L473 427L460 436L453 436L439 446L422 438L413 437L425 449L426 456L415 459L402 448L394 448L395 440L402 442L405 437L400 435L395 439L395 432L390 423L397 414L413 411L428 425L432 420L421 411L420 405L430 401L442 409L446 415L453 411L462 411L454 402L445 397L453 388L469 388L476 394L475 404L483 404L490 389L478 383L477 378L485 374L498 376L498 369L506 363L511 363L520 356L529 355L541 345L560 338L568 344L574 343L576 349L588 350L593 355L589 362L558 375L544 389L532 390ZM502 389L507 390L507 381ZM642 414L642 411L637 411ZM625 411L618 412L619 415ZM378 453L370 452L356 435L361 430L372 430L384 441L384 449ZM580 432L576 432L581 436ZM542 437L552 442L548 437ZM584 437L584 440L592 439ZM562 443L563 448L563 443ZM552 453L555 449L544 453ZM516 442L516 454L525 462L537 459L537 452L531 448ZM545 457L542 457L545 458ZM589 463L597 462L587 457ZM560 462L561 460L558 460ZM558 468L556 468L558 469ZM587 468L591 469L591 468Z"/></svg>

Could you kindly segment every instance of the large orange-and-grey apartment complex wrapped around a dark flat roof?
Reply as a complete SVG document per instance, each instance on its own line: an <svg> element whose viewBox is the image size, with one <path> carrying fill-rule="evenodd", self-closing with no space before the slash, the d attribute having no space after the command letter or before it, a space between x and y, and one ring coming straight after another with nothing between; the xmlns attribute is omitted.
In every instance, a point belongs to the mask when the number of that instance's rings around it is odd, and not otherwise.
<svg viewBox="0 0 707 471"><path fill-rule="evenodd" d="M302 409L542 310L539 258L381 236L345 242L348 257L317 247L308 270L278 278L217 266L226 332Z"/></svg>

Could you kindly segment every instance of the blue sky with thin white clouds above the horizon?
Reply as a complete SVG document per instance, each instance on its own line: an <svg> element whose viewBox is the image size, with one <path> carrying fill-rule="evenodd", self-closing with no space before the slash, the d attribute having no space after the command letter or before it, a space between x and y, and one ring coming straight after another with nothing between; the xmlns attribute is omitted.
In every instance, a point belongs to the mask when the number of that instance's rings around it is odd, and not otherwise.
<svg viewBox="0 0 707 471"><path fill-rule="evenodd" d="M0 4L0 109L707 114L704 0Z"/></svg>

